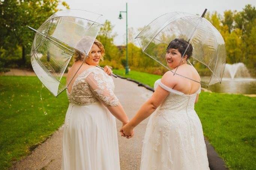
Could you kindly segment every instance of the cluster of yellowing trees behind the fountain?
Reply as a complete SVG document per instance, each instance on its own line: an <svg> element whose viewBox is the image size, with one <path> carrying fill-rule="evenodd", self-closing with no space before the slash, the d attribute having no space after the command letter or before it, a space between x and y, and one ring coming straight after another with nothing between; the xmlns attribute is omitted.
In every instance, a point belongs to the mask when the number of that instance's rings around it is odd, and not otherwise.
<svg viewBox="0 0 256 170"><path fill-rule="evenodd" d="M249 69L255 68L255 6L247 4L240 12L226 10L223 17L217 12L206 13L205 18L220 31L226 43L227 63L242 62Z"/></svg>

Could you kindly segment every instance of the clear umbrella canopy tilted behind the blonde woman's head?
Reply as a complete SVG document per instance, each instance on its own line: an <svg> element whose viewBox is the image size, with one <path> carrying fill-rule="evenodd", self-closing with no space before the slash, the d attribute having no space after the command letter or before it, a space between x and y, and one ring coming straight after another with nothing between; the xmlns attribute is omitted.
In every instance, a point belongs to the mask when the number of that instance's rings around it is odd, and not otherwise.
<svg viewBox="0 0 256 170"><path fill-rule="evenodd" d="M73 62L75 52L89 54L102 26L101 17L85 10L61 10L50 16L38 30L30 27L36 32L31 49L33 70L54 96L71 82L66 83L63 74Z"/></svg>

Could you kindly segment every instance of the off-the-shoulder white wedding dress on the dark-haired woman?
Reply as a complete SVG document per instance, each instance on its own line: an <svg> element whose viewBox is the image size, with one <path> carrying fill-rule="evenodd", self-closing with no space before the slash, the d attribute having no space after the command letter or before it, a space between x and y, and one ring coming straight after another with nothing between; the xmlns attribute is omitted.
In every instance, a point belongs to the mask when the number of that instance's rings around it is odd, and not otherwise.
<svg viewBox="0 0 256 170"><path fill-rule="evenodd" d="M143 140L140 170L209 170L202 124L194 110L199 90L183 94L161 83L170 92L150 116Z"/></svg>

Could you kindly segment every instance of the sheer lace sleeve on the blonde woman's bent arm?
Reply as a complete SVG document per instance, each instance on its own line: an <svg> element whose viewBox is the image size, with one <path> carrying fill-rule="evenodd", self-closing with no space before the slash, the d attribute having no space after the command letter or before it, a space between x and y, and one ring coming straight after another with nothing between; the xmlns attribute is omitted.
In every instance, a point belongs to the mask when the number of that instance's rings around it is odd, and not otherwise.
<svg viewBox="0 0 256 170"><path fill-rule="evenodd" d="M119 100L101 72L89 73L86 77L86 82L89 84L93 95L105 105L117 106L119 104Z"/></svg>

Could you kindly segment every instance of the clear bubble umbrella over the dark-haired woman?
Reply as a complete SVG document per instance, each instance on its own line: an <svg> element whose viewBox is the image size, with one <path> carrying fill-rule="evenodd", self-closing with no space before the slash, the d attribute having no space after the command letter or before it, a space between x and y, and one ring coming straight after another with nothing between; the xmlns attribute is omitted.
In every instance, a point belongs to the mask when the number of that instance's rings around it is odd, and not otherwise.
<svg viewBox="0 0 256 170"><path fill-rule="evenodd" d="M220 32L203 18L206 10L202 16L185 12L166 13L143 28L136 39L145 54L176 75L179 75L176 73L179 66L174 70L167 66L166 48L176 38L186 40L193 46L193 54L188 63L199 72L199 83L209 86L221 82L226 63L226 48ZM185 52L187 48L188 46ZM181 54L182 58L185 52ZM179 76L188 78L186 75Z"/></svg>

